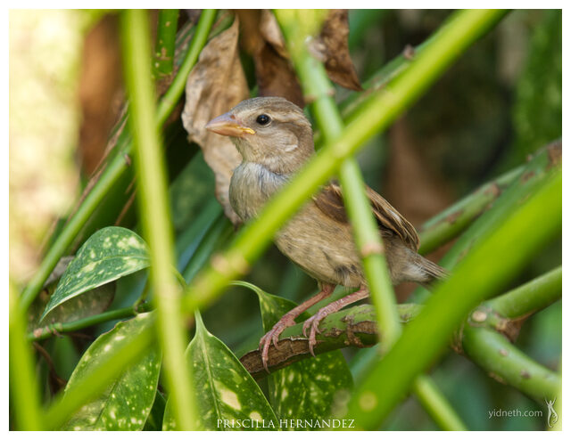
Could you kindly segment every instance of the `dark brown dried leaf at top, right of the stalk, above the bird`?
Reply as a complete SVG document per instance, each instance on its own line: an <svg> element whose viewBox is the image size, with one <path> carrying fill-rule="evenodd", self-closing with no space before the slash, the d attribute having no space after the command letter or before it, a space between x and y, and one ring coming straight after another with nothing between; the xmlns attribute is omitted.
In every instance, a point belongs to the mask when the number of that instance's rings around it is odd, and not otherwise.
<svg viewBox="0 0 571 440"><path fill-rule="evenodd" d="M362 90L349 53L349 12L346 9L329 12L313 49L322 55L327 76L333 82L351 90Z"/></svg>

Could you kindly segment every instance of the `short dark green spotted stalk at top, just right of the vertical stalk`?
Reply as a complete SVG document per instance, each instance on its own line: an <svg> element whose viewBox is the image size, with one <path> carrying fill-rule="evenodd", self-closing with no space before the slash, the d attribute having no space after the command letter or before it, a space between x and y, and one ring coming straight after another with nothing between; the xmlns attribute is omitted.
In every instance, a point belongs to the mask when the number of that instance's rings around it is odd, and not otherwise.
<svg viewBox="0 0 571 440"><path fill-rule="evenodd" d="M178 9L161 9L154 46L154 75L168 77L172 74L177 39Z"/></svg>

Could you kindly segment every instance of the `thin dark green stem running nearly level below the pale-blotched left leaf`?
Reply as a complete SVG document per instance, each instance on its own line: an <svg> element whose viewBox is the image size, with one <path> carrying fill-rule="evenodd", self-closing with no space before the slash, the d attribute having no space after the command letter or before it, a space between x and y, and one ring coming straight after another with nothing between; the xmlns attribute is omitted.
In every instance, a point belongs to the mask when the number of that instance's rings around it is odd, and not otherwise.
<svg viewBox="0 0 571 440"><path fill-rule="evenodd" d="M77 321L72 322L54 322L53 324L40 327L28 333L28 340L38 341L51 338L60 333L70 333L71 331L78 331L91 327L93 325L101 324L113 320L120 320L123 318L130 318L137 314L142 314L151 310L151 305L148 303L141 304L137 309L135 307L124 307L117 310L110 310L103 312L103 314L94 314Z"/></svg>

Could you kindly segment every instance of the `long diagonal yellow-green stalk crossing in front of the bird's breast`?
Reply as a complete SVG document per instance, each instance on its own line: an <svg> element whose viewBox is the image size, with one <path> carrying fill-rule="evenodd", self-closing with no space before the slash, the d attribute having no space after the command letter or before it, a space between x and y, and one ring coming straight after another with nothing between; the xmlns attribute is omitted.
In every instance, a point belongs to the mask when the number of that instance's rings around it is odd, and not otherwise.
<svg viewBox="0 0 571 440"><path fill-rule="evenodd" d="M344 159L359 150L374 134L388 126L462 51L481 37L501 11L462 11L434 36L430 45L390 85L374 94L346 126L336 142L327 143L316 158L281 191L261 212L258 220L244 227L216 267L210 265L187 290L185 310L206 306L228 282L243 276L249 265L261 256L269 241L286 219L318 190L319 185L341 166ZM372 95L373 96L373 95Z"/></svg>

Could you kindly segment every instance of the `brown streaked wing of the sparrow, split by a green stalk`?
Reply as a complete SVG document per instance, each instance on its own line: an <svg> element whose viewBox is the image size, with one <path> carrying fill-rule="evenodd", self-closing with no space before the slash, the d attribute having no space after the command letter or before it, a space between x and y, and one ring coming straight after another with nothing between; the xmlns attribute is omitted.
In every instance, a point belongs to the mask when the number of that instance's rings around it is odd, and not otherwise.
<svg viewBox="0 0 571 440"><path fill-rule="evenodd" d="M414 226L376 191L368 186L366 189L379 227L394 232L410 249L418 250L419 240ZM326 216L342 223L349 221L343 205L343 195L339 183L335 181L329 183L319 194L313 197L313 201Z"/></svg>

